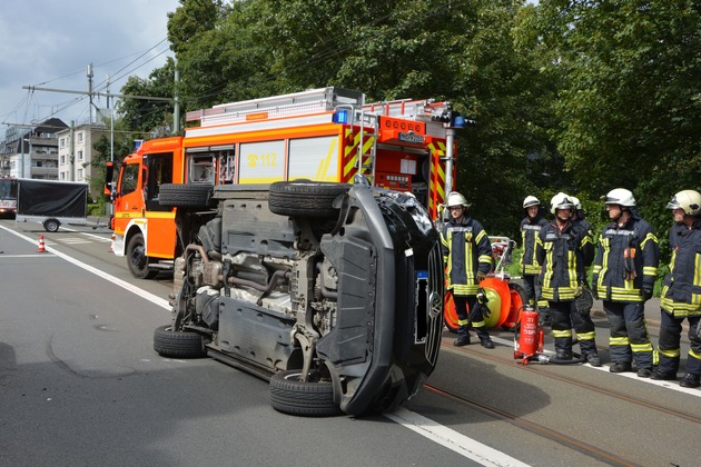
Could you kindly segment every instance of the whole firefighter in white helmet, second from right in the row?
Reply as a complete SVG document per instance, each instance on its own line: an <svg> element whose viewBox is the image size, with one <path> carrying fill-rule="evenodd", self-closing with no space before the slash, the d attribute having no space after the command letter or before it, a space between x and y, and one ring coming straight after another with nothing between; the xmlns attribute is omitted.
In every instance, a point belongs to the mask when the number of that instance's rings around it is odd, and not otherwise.
<svg viewBox="0 0 701 467"><path fill-rule="evenodd" d="M660 247L652 227L635 209L633 193L624 188L604 199L611 223L601 232L592 275L594 297L603 300L611 335L611 372L652 374L653 349L645 324L645 301L658 277Z"/></svg>

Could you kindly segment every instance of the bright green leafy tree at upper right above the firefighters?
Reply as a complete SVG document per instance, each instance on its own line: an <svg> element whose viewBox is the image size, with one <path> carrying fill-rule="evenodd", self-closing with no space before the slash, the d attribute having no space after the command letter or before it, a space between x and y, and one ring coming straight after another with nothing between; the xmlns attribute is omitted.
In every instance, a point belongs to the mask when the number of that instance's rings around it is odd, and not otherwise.
<svg viewBox="0 0 701 467"><path fill-rule="evenodd" d="M553 137L593 197L632 189L649 218L698 186L701 11L693 0L545 0L537 8L549 72L562 79Z"/></svg>

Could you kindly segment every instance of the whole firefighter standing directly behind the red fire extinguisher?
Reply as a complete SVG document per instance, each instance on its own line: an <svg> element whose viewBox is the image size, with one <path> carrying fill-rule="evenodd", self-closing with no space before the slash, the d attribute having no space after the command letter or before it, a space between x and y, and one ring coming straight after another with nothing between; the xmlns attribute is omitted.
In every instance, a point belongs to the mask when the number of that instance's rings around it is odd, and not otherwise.
<svg viewBox="0 0 701 467"><path fill-rule="evenodd" d="M541 229L536 240L535 257L541 265L541 287L547 300L555 338L555 357L559 360L572 359L572 328L576 332L582 358L590 365L600 367L596 350L594 324L586 312L580 312L575 299L586 287L584 252L582 245L586 234L576 228L570 216L574 203L572 198L560 192L550 202L554 215L552 223Z"/></svg>

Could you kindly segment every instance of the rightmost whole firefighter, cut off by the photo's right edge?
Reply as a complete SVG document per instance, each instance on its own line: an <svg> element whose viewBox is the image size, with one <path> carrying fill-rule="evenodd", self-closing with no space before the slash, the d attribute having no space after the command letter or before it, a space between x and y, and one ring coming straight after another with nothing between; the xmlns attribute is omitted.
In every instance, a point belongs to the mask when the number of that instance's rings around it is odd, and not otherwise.
<svg viewBox="0 0 701 467"><path fill-rule="evenodd" d="M698 388L701 377L701 337L694 330L701 321L701 195L694 190L680 191L667 208L672 209L674 216L674 226L670 229L672 261L662 286L660 362L652 379L677 379L682 322L685 318L689 320L690 349L687 372L680 386Z"/></svg>

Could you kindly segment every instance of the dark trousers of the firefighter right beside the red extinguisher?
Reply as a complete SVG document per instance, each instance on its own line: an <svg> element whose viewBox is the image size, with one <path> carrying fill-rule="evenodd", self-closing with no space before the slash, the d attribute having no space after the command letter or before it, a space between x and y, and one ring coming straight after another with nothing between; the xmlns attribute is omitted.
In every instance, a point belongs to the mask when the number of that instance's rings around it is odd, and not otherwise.
<svg viewBox="0 0 701 467"><path fill-rule="evenodd" d="M596 354L596 332L589 314L580 314L574 301L549 301L555 350L572 351L572 329L576 332L582 356Z"/></svg>

